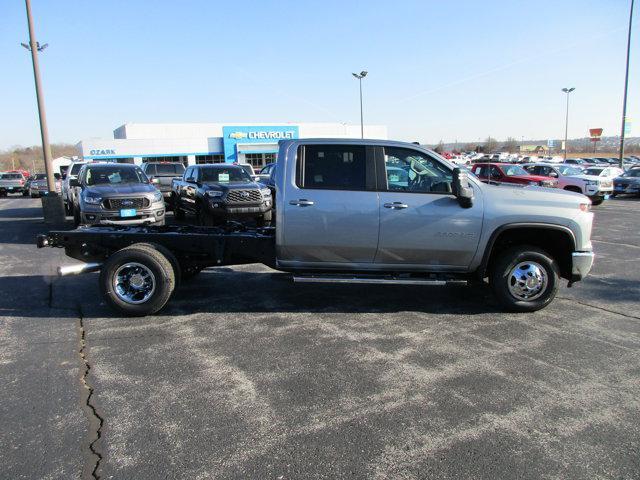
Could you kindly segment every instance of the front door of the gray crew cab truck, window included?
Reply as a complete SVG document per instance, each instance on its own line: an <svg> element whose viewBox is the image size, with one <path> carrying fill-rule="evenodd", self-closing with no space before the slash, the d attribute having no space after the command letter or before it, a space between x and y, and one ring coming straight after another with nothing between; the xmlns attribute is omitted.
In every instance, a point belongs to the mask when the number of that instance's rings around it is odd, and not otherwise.
<svg viewBox="0 0 640 480"><path fill-rule="evenodd" d="M419 270L464 270L482 230L482 193L471 208L451 193L452 171L411 148L377 149L380 240L376 264ZM473 184L471 184L473 188Z"/></svg>

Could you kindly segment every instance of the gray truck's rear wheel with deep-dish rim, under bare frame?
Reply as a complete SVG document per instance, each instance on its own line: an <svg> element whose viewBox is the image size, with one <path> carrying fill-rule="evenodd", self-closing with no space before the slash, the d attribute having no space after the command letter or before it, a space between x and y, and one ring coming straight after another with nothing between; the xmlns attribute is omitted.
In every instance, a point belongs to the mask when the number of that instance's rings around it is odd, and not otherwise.
<svg viewBox="0 0 640 480"><path fill-rule="evenodd" d="M131 245L117 251L100 272L100 290L107 303L127 316L158 312L176 286L174 267L160 251Z"/></svg>

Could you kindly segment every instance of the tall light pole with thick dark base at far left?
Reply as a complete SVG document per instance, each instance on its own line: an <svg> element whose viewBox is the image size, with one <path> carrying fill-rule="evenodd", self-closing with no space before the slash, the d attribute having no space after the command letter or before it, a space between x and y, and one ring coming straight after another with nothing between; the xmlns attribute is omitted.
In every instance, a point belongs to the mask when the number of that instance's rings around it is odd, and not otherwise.
<svg viewBox="0 0 640 480"><path fill-rule="evenodd" d="M45 223L64 223L65 215L62 206L62 198L56 192L56 182L53 177L51 165L51 147L49 146L49 130L47 128L47 116L44 109L44 97L42 94L42 82L40 80L40 66L38 64L38 52L47 48L48 44L40 45L36 41L33 18L31 17L31 2L25 0L27 7L27 22L29 24L29 44L22 46L31 52L33 63L33 77L36 83L36 99L38 102L38 117L40 118L40 136L42 137L42 153L44 155L44 168L47 173L47 195L42 197L42 209Z"/></svg>

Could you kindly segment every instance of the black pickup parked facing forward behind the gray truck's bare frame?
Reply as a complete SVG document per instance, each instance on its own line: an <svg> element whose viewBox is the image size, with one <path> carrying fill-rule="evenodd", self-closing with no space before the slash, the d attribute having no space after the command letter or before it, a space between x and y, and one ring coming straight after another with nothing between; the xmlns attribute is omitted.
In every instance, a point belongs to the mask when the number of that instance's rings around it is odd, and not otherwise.
<svg viewBox="0 0 640 480"><path fill-rule="evenodd" d="M192 165L173 180L171 197L176 218L189 213L199 225L245 219L255 219L258 226L271 222L271 191L238 165Z"/></svg>

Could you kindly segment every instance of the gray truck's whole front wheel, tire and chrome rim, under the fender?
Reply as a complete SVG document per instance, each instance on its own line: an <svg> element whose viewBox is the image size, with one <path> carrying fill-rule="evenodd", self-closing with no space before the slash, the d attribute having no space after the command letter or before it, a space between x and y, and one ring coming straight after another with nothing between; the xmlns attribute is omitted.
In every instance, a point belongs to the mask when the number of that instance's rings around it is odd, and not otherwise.
<svg viewBox="0 0 640 480"><path fill-rule="evenodd" d="M497 300L512 312L535 312L549 305L560 284L556 261L533 246L500 252L489 281Z"/></svg>

